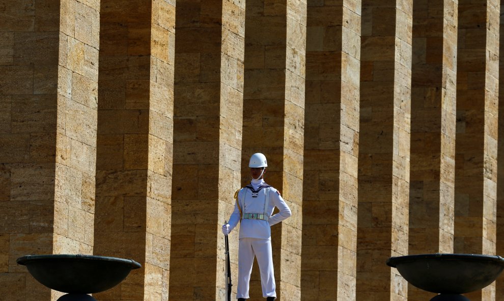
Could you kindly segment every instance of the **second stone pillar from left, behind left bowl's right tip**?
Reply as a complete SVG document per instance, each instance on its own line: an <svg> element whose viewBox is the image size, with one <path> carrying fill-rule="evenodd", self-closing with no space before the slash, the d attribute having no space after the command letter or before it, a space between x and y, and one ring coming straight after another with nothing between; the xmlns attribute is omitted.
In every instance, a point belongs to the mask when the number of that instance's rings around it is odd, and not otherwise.
<svg viewBox="0 0 504 301"><path fill-rule="evenodd" d="M101 2L95 254L142 263L106 300L167 300L175 1Z"/></svg>

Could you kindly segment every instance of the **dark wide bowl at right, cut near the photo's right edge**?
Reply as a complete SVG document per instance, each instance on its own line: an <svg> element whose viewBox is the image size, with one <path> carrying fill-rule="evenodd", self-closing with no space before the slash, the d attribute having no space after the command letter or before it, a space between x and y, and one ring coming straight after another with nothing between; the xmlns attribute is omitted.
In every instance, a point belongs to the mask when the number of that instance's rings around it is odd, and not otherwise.
<svg viewBox="0 0 504 301"><path fill-rule="evenodd" d="M406 281L433 293L463 294L491 284L504 269L500 256L477 254L422 254L390 257Z"/></svg>

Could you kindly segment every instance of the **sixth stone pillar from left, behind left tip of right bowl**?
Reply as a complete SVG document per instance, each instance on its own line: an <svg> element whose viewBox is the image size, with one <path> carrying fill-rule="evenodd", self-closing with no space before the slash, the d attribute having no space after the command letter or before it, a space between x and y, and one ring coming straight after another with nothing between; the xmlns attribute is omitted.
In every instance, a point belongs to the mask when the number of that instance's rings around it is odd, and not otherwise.
<svg viewBox="0 0 504 301"><path fill-rule="evenodd" d="M412 1L362 2L357 300L406 300Z"/></svg>

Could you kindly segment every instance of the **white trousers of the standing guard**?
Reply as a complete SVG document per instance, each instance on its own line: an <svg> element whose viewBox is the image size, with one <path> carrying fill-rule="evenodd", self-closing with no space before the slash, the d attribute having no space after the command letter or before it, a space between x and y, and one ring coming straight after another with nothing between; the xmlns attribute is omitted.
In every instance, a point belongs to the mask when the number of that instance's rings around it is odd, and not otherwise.
<svg viewBox="0 0 504 301"><path fill-rule="evenodd" d="M254 256L257 257L261 273L263 297L276 298L271 240L258 238L241 238L238 243L238 291L236 297L249 298L248 288Z"/></svg>

